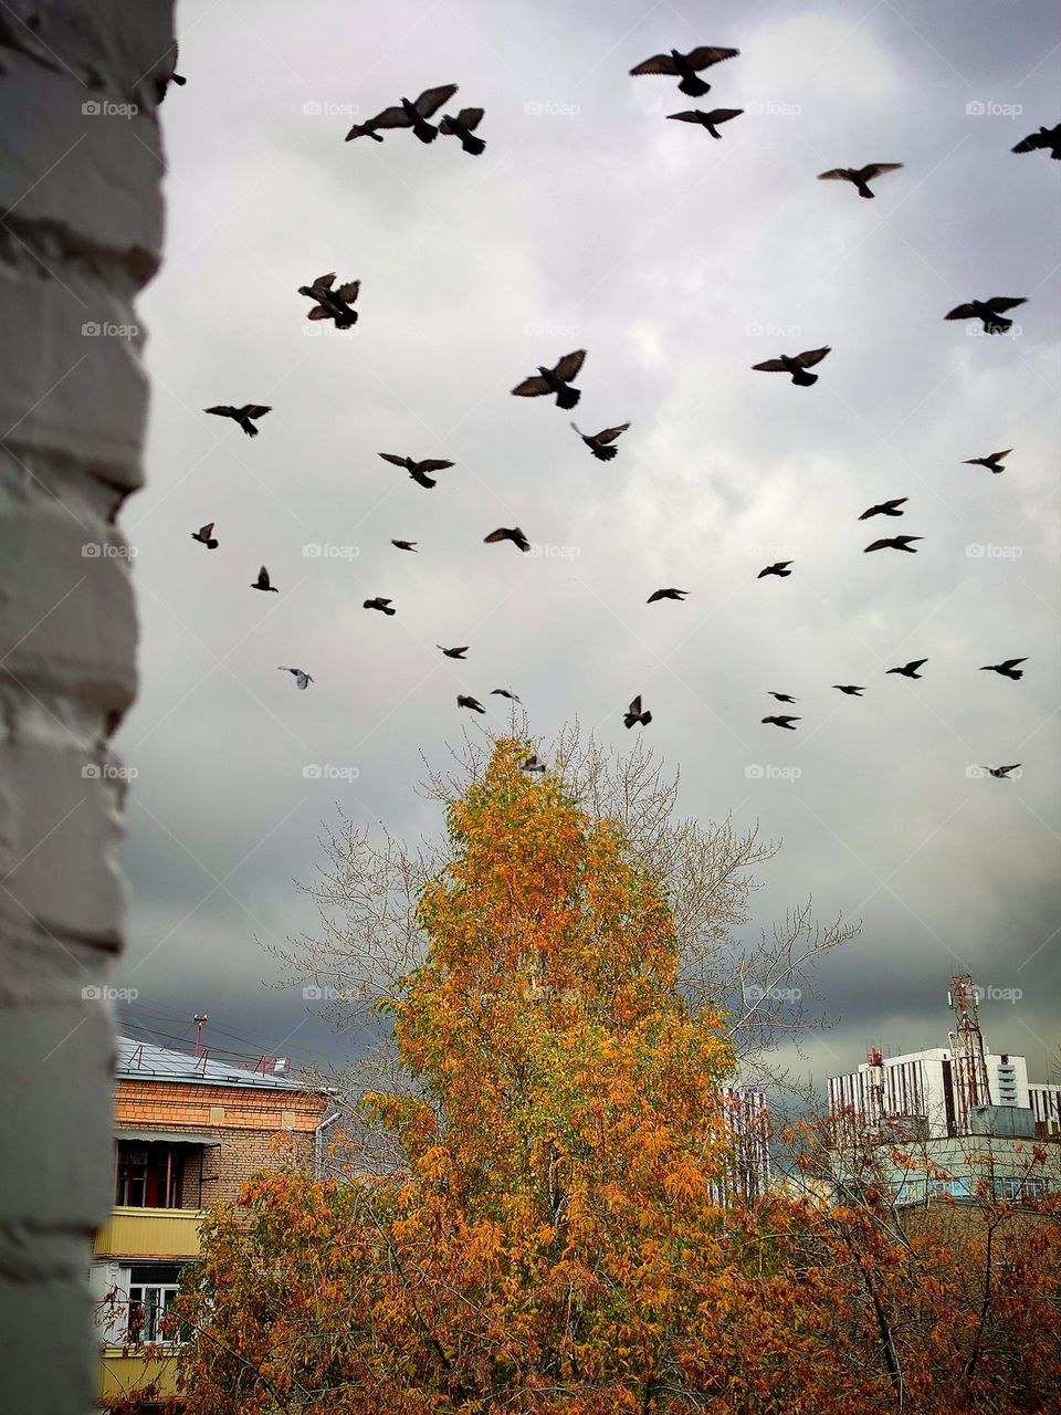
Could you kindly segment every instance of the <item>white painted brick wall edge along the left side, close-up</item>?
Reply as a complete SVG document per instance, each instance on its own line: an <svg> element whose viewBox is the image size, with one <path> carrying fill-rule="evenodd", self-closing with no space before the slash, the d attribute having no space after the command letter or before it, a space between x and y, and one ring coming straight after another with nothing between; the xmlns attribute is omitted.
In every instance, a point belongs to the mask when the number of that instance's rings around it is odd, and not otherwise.
<svg viewBox="0 0 1061 1415"><path fill-rule="evenodd" d="M129 560L85 546L123 545L147 379L141 337L85 325L137 325L158 265L171 44L171 0L0 7L0 1409L31 1415L93 1408L112 1019L83 989L123 914L123 785L93 768L136 692L136 613Z"/></svg>

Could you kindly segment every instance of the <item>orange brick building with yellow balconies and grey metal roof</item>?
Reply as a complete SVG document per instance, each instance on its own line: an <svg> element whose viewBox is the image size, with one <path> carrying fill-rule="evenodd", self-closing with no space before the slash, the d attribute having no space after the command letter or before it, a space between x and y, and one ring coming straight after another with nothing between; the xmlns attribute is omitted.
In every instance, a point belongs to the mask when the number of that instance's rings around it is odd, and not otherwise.
<svg viewBox="0 0 1061 1415"><path fill-rule="evenodd" d="M286 1162L318 1170L330 1111L328 1094L291 1080L280 1058L250 1070L117 1039L113 1208L89 1279L100 1397L154 1378L160 1395L173 1394L173 1357L141 1347L175 1344L163 1319L181 1266L198 1254L202 1210L235 1200L256 1170Z"/></svg>

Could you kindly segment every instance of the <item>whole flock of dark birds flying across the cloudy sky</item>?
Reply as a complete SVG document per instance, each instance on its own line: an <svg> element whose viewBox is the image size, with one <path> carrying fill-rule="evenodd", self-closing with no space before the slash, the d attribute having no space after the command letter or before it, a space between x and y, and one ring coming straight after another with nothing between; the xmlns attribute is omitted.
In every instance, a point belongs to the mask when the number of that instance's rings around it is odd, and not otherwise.
<svg viewBox="0 0 1061 1415"><path fill-rule="evenodd" d="M682 93L690 98L700 98L707 93L712 86L706 79L700 78L700 74L724 59L736 58L738 54L738 50L716 48L709 45L700 45L689 52L671 50L666 54L655 54L644 62L637 64L630 74L635 76L669 75L678 78L678 88ZM175 74L171 78L173 82L177 83L185 82L185 79ZM364 123L355 123L347 133L347 142L358 137L369 137L376 143L382 143L383 133L399 129L410 129L413 136L422 143L433 143L436 137L443 133L446 136L457 137L465 153L471 156L481 156L485 150L485 142L475 136L475 129L480 126L484 116L484 110L481 108L460 109L456 115L443 115L437 125L431 122L439 109L444 108L456 92L457 85L447 83L440 88L426 89L416 100L402 98L399 103L382 109L375 115L375 117L371 117ZM668 117L683 123L699 125L706 129L712 137L720 139L721 134L717 132L719 125L740 117L743 112L743 109L723 108L710 109L707 112L702 109L689 109L680 113L669 113ZM1061 123L1055 125L1053 129L1040 127L1037 132L1021 139L1021 142L1013 147L1014 153L1030 153L1037 150L1048 151L1051 158L1061 160ZM870 188L870 183L877 177L886 175L887 173L898 171L901 167L903 163L867 163L863 167L835 167L829 171L819 173L819 180L846 181L854 187L862 198L873 198L874 192ZM348 280L337 286L335 272L331 272L328 275L317 276L311 284L300 286L298 294L306 296L313 301L313 308L310 308L307 314L308 320L331 320L337 330L351 330L358 321L355 304L359 289L359 280ZM1013 321L1007 318L1007 313L1024 303L1026 299L1023 296L990 296L986 300L969 300L959 304L953 310L949 310L944 318L979 320L986 334L1004 334L1013 324ZM757 372L788 374L794 385L799 388L811 388L819 378L819 375L812 374L811 369L821 364L822 359L825 359L830 352L830 347L826 345L823 348L805 350L801 354L779 354L777 358L765 359L764 362L753 364L751 366ZM557 359L552 368L539 365L536 372L525 378L512 389L512 395L516 398L555 398L557 408L570 410L581 398L580 389L573 385L581 374L584 361L586 350L574 350L573 352L564 354L560 359ZM205 412L218 417L231 417L242 427L248 437L257 437L259 429L256 423L259 419L265 417L266 413L272 412L272 408L260 403L245 403L242 406L218 405L215 408L207 408ZM618 456L615 441L630 429L631 424L621 423L615 427L604 427L598 433L584 433L576 423L572 423L570 426L597 460L611 461ZM985 467L986 470L997 474L1004 471L1004 458L1013 449L1006 449L1004 451L995 451L985 457L969 457L963 464ZM454 463L440 458L423 458L417 461L412 457L388 451L379 453L379 456L383 461L407 471L409 477L424 490L433 490L437 485L436 473L447 471L454 466ZM869 507L862 512L859 519L867 521L871 516L879 515L901 516L905 514L904 505L907 501L907 497L893 497L888 501ZM194 531L192 539L204 545L208 550L215 550L219 543L214 536L214 522L208 522L198 531ZM917 546L914 542L922 539L924 536L920 535L884 536L867 545L864 552L870 553L874 550L891 549L915 555ZM530 541L519 526L498 526L495 531L491 531L489 535L484 536L484 543L487 545L504 541L511 541L512 545L522 552L530 550ZM412 553L419 552L419 545L414 541L395 538L390 541L390 545L399 550ZM792 574L792 560L777 560L761 569L757 579L761 580L770 576L787 579ZM269 570L265 565L257 572L257 579L250 584L250 589L270 594L279 593L277 586L270 582ZM663 587L654 590L647 603L655 604L662 600L680 603L688 594L689 590ZM383 596L375 596L365 600L364 608L376 610L386 616L398 613L392 600ZM467 644L451 648L446 648L441 644L437 644L436 647L441 649L447 658L458 661L464 661L464 655L470 648ZM887 672L898 674L904 678L920 679L922 678L922 674L918 669L921 669L927 662L927 658L917 658L897 668L888 668ZM986 664L980 671L995 672L1003 678L1017 681L1023 676L1023 671L1017 665L1024 662L1027 662L1026 658L1009 658L1000 664ZM304 672L301 668L286 668L282 665L279 671L291 674L294 676L296 686L303 691L314 681L311 675ZM866 686L857 683L833 683L832 686L840 693L852 698L860 698L866 692ZM491 689L491 693L506 698L515 703L521 702L521 699L506 688L494 688ZM791 693L785 692L771 691L768 696L787 705L798 700ZM478 699L468 693L457 695L457 706L467 708L478 713L485 713L487 710ZM789 713L774 713L763 717L761 720L764 724L795 732L795 723L802 719ZM652 713L642 708L641 695L638 695L632 699L627 712L622 715L622 723L625 727L634 727L635 724L647 727L651 722ZM1020 763L1014 763L1011 766L986 767L983 770L997 780L1009 780L1009 773L1014 771L1019 766ZM533 754L522 763L522 767L529 773L545 771L543 763L540 763Z"/></svg>

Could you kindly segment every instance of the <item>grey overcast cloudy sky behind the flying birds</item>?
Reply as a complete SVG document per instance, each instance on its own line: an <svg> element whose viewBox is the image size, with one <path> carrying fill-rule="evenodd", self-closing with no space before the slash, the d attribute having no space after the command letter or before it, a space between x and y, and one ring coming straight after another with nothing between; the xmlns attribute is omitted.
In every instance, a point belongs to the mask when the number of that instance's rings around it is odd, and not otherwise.
<svg viewBox="0 0 1061 1415"><path fill-rule="evenodd" d="M420 753L441 766L465 729L502 729L489 689L546 743L577 716L621 750L639 692L683 812L784 842L753 931L808 894L862 920L819 971L836 1023L809 1074L869 1041L945 1043L949 975L970 971L1020 993L985 1005L985 1033L1043 1078L1061 1041L1061 163L1010 149L1060 116L1057 16L187 0L177 20L167 255L140 304L149 485L123 512L143 625L117 739L137 771L126 1024L184 1039L201 1010L218 1049L335 1057L300 989L263 983L266 945L314 927L294 880L337 802L437 832ZM628 76L697 44L741 51L700 100L744 109L721 142L665 122L696 106L673 79ZM485 109L484 156L344 143L358 110L447 82L453 109ZM869 161L905 164L873 202L815 181ZM351 333L306 320L297 287L325 270L362 282ZM1028 297L1010 337L944 321L992 294ZM750 369L826 344L815 388ZM632 424L610 464L555 402L509 396L574 348L580 424ZM253 441L201 412L245 402L273 408ZM1004 447L1003 475L962 466ZM382 450L456 467L427 492ZM903 521L859 524L900 495ZM205 521L215 552L188 535ZM540 553L482 545L497 525ZM863 555L900 531L920 553ZM792 576L757 580L775 559ZM277 596L249 590L262 562ZM685 604L645 604L671 584ZM393 618L361 608L376 594ZM1021 682L978 672L1024 655ZM922 681L886 676L912 658ZM799 699L795 733L761 726L768 689ZM1014 761L1010 782L975 771Z"/></svg>

